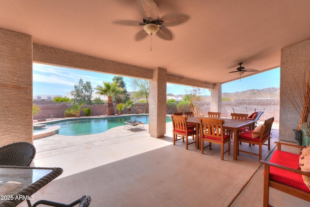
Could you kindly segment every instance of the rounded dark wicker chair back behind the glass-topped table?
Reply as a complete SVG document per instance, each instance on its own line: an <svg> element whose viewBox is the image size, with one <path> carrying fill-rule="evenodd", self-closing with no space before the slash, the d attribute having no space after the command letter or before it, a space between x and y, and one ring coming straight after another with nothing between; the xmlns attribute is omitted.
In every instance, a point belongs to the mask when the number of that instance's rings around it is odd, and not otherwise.
<svg viewBox="0 0 310 207"><path fill-rule="evenodd" d="M30 166L35 156L31 143L18 142L0 147L0 165Z"/></svg>

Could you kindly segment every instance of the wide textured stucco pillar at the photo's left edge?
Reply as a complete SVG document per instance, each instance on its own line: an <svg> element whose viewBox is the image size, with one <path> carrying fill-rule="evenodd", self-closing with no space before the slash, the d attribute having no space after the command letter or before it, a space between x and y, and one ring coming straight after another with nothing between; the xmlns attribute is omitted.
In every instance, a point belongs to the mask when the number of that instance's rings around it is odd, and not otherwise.
<svg viewBox="0 0 310 207"><path fill-rule="evenodd" d="M0 146L32 143L32 37L0 29Z"/></svg>

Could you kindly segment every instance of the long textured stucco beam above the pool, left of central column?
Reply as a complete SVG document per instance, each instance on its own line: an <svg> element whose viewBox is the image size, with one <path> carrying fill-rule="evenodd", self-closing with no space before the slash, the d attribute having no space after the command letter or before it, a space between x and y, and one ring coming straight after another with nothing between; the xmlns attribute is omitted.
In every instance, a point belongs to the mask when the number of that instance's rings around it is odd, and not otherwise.
<svg viewBox="0 0 310 207"><path fill-rule="evenodd" d="M70 68L128 76L142 79L152 79L153 70L88 55L70 52L58 48L33 44L33 62L65 66Z"/></svg>

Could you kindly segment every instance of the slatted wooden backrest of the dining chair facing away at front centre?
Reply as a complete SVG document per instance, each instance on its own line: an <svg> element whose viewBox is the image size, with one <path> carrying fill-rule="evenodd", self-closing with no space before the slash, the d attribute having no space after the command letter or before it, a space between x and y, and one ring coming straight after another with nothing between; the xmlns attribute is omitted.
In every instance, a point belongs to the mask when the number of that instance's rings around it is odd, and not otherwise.
<svg viewBox="0 0 310 207"><path fill-rule="evenodd" d="M199 118L200 122L200 133L203 137L213 137L220 140L224 140L223 124L225 121L223 119L209 119L209 118Z"/></svg>

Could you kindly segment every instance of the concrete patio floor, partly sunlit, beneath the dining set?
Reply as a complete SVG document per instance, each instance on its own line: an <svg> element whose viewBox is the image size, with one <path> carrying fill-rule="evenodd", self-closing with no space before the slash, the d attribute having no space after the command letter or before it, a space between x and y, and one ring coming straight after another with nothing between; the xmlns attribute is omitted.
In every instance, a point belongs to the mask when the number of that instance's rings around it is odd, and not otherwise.
<svg viewBox="0 0 310 207"><path fill-rule="evenodd" d="M240 153L238 160L213 145L201 154L195 146L172 144L172 125L166 136L153 138L145 129L115 127L85 136L53 135L34 141L34 166L61 167L62 175L34 194L36 200L70 203L83 194L92 196L93 207L261 207L263 166L257 156ZM279 130L272 129L271 150ZM257 151L257 146L241 147ZM233 149L233 142L231 143ZM270 156L269 156L270 157ZM310 203L271 190L270 204L277 207L309 206ZM19 207L27 207L23 202Z"/></svg>

